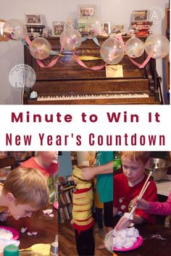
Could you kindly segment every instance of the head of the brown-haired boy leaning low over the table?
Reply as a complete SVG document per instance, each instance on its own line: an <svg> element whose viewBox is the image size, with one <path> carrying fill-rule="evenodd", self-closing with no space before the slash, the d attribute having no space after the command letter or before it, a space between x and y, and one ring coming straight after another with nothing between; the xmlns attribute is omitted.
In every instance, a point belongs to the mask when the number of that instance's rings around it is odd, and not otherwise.
<svg viewBox="0 0 171 256"><path fill-rule="evenodd" d="M0 184L0 220L8 215L16 220L31 217L33 212L49 202L46 178L39 170L17 168L12 170L3 184Z"/></svg>

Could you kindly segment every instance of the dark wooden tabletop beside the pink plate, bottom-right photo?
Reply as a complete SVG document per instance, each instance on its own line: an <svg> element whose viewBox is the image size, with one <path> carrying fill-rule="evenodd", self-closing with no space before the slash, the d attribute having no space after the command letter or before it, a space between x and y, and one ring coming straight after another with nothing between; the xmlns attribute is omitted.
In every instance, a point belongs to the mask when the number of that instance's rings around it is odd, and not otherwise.
<svg viewBox="0 0 171 256"><path fill-rule="evenodd" d="M143 244L128 252L116 252L118 256L169 256L171 253L171 228L163 223L136 226L143 237ZM158 236L158 238L157 238Z"/></svg>

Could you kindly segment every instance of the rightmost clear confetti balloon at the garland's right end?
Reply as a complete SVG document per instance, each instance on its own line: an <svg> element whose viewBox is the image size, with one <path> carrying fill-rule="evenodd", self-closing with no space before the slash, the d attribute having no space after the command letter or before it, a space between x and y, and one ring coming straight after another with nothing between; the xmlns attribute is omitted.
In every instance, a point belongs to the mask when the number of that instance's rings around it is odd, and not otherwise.
<svg viewBox="0 0 171 256"><path fill-rule="evenodd" d="M151 35L146 38L145 50L154 59L162 59L170 52L170 42L162 35Z"/></svg>

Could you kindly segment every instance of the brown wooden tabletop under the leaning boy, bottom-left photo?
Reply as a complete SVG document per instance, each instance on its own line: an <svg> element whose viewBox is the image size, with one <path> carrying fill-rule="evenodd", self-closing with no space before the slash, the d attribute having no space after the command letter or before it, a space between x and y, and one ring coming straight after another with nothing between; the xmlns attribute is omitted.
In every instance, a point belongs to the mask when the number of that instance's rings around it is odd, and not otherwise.
<svg viewBox="0 0 171 256"><path fill-rule="evenodd" d="M52 209L48 207L48 209ZM36 212L31 218L21 218L20 220L14 220L9 217L6 222L0 222L1 226L9 226L17 229L20 233L20 249L25 249L33 244L51 244L54 241L55 235L58 234L58 212L53 208L54 218L43 215L42 211ZM36 231L36 236L28 236L27 231L22 234L21 228L28 227L28 231Z"/></svg>

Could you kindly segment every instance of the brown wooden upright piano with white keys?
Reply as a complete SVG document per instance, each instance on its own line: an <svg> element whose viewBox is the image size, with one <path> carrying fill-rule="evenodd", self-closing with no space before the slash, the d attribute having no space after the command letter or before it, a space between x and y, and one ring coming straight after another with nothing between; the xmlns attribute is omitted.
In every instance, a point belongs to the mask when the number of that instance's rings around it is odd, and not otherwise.
<svg viewBox="0 0 171 256"><path fill-rule="evenodd" d="M123 40L127 41L128 36ZM101 45L107 38L99 37ZM145 41L146 37L141 37ZM59 51L59 38L47 38L51 47ZM106 78L105 67L102 70L88 70L78 65L69 51L63 51L63 57L54 67L42 68L25 46L25 64L36 72L36 83L33 88L25 88L24 104L161 104L160 80L156 71L156 60L150 59L142 69L133 65L128 56L119 65L123 68L123 78ZM86 40L75 51L78 56L100 57L100 47L93 40ZM56 56L55 56L56 57ZM43 60L48 65L54 56ZM144 53L138 59L143 63ZM102 59L84 62L88 67L104 65ZM30 92L37 91L38 97L30 99Z"/></svg>

